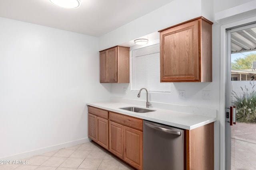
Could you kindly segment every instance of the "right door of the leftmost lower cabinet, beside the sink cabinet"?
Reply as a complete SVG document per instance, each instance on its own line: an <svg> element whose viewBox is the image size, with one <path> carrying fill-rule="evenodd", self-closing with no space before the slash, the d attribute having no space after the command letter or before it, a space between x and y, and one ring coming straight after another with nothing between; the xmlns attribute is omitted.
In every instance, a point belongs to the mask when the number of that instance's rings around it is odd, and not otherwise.
<svg viewBox="0 0 256 170"><path fill-rule="evenodd" d="M108 120L97 117L97 143L108 149Z"/></svg>

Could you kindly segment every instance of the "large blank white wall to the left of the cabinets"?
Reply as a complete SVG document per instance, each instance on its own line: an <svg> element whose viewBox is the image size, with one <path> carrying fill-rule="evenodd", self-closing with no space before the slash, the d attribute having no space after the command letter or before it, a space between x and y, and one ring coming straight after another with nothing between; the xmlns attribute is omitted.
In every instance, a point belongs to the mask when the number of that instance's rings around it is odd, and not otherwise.
<svg viewBox="0 0 256 170"><path fill-rule="evenodd" d="M86 102L110 96L110 84L99 83L98 38L0 25L0 158L86 141Z"/></svg>

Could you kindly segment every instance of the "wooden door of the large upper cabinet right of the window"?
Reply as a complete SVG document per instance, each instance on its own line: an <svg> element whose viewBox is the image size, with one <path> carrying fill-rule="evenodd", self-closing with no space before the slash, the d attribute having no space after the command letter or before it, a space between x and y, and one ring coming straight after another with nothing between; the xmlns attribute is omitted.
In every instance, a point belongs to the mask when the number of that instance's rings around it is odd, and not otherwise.
<svg viewBox="0 0 256 170"><path fill-rule="evenodd" d="M199 21L160 32L161 82L199 80Z"/></svg>

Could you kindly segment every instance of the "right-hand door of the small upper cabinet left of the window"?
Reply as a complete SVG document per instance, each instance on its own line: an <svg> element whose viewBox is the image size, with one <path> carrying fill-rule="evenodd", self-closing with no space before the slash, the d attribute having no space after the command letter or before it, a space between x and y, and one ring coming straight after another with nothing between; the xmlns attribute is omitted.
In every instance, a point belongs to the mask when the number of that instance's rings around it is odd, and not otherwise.
<svg viewBox="0 0 256 170"><path fill-rule="evenodd" d="M108 50L108 82L117 82L117 47Z"/></svg>

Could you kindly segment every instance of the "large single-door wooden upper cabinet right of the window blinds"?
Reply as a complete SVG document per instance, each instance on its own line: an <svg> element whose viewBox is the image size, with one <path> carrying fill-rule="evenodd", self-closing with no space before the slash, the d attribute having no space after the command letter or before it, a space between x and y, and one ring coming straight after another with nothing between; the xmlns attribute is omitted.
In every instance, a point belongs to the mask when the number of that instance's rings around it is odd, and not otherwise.
<svg viewBox="0 0 256 170"><path fill-rule="evenodd" d="M161 82L212 82L212 24L198 17L159 31Z"/></svg>

